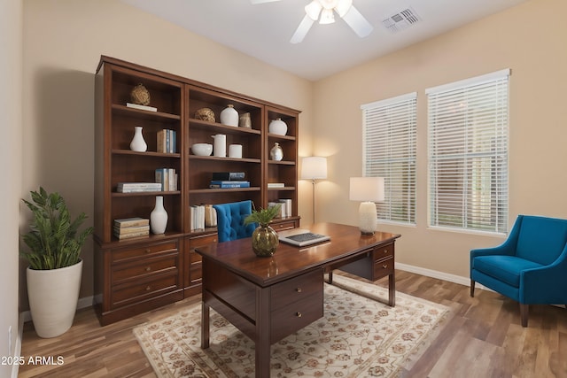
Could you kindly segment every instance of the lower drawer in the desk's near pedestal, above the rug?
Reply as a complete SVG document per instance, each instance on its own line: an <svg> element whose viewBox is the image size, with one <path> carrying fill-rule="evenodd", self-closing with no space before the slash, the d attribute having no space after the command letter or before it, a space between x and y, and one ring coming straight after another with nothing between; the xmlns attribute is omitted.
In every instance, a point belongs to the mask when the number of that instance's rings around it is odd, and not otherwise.
<svg viewBox="0 0 567 378"><path fill-rule="evenodd" d="M290 305L272 310L270 327L272 334L270 343L276 343L285 336L313 323L323 315L323 292L303 297Z"/></svg>

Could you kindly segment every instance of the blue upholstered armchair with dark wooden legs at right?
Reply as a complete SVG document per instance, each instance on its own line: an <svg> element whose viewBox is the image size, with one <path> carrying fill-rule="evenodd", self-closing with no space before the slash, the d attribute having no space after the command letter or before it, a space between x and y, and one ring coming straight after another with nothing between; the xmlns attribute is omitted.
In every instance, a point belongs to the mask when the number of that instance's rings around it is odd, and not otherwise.
<svg viewBox="0 0 567 378"><path fill-rule="evenodd" d="M475 282L519 302L523 327L529 305L566 305L567 220L519 215L500 246L470 251L470 297Z"/></svg>

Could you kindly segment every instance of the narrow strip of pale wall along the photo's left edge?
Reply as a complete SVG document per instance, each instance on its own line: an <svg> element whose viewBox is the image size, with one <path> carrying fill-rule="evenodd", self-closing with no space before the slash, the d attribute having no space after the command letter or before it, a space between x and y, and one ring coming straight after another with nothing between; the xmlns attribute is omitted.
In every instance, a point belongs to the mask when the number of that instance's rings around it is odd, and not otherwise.
<svg viewBox="0 0 567 378"><path fill-rule="evenodd" d="M2 216L0 217L0 356L14 356L18 335L18 230L21 190L21 0L0 2L0 161ZM12 328L9 340L8 329ZM9 340L9 342L8 342ZM9 344L11 345L9 349ZM8 377L12 366L0 365Z"/></svg>

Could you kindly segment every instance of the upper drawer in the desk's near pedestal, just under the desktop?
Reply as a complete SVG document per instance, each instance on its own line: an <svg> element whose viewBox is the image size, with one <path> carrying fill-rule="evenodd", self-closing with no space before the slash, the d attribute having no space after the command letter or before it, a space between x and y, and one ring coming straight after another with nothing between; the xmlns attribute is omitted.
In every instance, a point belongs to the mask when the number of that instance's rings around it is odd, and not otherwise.
<svg viewBox="0 0 567 378"><path fill-rule="evenodd" d="M317 270L274 285L270 291L272 311L277 312L304 297L322 293L322 282L322 270Z"/></svg>

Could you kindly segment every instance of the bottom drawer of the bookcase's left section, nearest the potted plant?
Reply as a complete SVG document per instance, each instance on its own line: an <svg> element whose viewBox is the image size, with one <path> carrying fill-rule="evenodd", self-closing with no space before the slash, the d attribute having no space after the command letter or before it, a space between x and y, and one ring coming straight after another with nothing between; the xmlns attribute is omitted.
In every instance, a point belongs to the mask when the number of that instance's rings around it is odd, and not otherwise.
<svg viewBox="0 0 567 378"><path fill-rule="evenodd" d="M161 294L178 289L177 272L160 276L153 280L136 282L135 285L121 285L113 289L111 293L111 307L117 308L123 305L137 303L145 298L156 297Z"/></svg>

